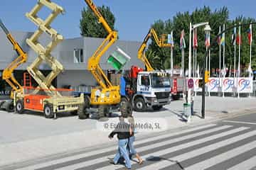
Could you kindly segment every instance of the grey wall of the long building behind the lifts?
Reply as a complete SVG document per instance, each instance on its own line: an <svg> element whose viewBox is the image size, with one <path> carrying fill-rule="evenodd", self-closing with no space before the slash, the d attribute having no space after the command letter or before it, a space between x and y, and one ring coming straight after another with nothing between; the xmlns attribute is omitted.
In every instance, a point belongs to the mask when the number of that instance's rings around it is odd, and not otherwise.
<svg viewBox="0 0 256 170"><path fill-rule="evenodd" d="M11 33L17 42L21 45L23 50L28 54L28 61L21 64L16 70L26 70L37 57L36 52L34 52L27 44L26 39L30 38L33 33L26 32L13 32ZM66 39L55 47L51 55L63 64L64 72L59 74L57 77L58 88L71 85L79 86L80 84L85 84L87 86L95 86L96 81L92 77L90 71L87 70L87 60L93 55L97 47L99 47L104 39L102 38L73 38ZM43 34L39 38L39 42L46 46L50 42L48 35ZM131 42L124 40L117 40L117 42L110 47L109 50L102 56L100 60L100 67L103 70L113 69L113 67L107 63L107 57L110 56L117 47L120 47L124 52L131 57L131 60L125 65L124 69L129 69L132 65L137 65L139 67L144 67L142 62L137 59L137 51L141 42ZM84 63L74 63L74 49L83 49ZM11 63L17 57L16 52L13 50L13 46L6 38L3 31L0 30L0 72L6 66ZM46 63L39 66L41 70L49 70L50 68ZM1 74L1 73L0 73Z"/></svg>

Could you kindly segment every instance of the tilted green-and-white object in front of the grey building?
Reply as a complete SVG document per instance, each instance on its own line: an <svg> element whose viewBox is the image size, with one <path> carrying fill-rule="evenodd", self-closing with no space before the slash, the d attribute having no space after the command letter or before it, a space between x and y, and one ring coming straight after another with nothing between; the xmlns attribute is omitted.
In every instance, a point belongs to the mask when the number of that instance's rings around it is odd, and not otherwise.
<svg viewBox="0 0 256 170"><path fill-rule="evenodd" d="M114 67L114 69L122 69L122 67L124 67L124 65L131 59L131 57L129 57L129 55L127 55L122 49L120 49L119 47L117 47L117 50L114 51L110 57L108 57L107 59L107 63L112 64L112 67Z"/></svg>

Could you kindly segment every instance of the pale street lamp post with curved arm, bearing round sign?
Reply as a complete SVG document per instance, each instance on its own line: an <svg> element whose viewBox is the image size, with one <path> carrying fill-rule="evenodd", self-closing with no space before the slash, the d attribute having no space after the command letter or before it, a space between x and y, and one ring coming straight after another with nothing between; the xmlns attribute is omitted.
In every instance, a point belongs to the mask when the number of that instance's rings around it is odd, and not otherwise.
<svg viewBox="0 0 256 170"><path fill-rule="evenodd" d="M198 28L199 26L208 26L208 22L205 23L196 23L192 26L192 23L189 23L189 52L188 52L188 79L191 79L191 32L193 29ZM210 28L210 26L209 26ZM188 89L188 104L191 105L191 89Z"/></svg>

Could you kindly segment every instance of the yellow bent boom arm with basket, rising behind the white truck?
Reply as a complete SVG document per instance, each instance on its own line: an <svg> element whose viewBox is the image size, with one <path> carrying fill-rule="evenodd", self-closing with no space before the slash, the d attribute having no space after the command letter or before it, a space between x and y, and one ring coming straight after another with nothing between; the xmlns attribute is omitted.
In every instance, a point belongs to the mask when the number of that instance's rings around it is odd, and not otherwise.
<svg viewBox="0 0 256 170"><path fill-rule="evenodd" d="M154 71L154 68L151 66L149 60L146 58L145 50L146 50L146 43L149 41L149 38L151 38L152 36L159 47L171 47L171 44L166 43L166 35L161 35L162 37L159 39L154 28L151 28L149 30L149 33L147 33L138 51L139 60L142 60L142 62L146 66L146 71L149 71L149 72Z"/></svg>

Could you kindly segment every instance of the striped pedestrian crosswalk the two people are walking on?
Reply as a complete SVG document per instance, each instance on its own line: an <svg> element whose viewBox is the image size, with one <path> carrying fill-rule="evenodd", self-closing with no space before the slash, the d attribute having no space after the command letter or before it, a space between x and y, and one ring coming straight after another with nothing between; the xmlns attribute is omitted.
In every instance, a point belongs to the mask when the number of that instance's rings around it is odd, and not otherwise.
<svg viewBox="0 0 256 170"><path fill-rule="evenodd" d="M230 170L245 170L256 166L255 155L250 156L254 150L256 151L256 130L246 125L202 125L180 132L166 132L148 137L134 144L144 159L144 164L139 165L132 160L132 169L193 170L225 167ZM121 169L124 165L109 164L116 149L114 146L75 154L26 166L20 170ZM239 159L241 155L243 159Z"/></svg>

